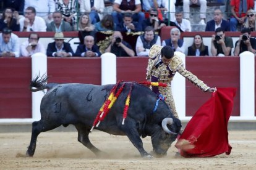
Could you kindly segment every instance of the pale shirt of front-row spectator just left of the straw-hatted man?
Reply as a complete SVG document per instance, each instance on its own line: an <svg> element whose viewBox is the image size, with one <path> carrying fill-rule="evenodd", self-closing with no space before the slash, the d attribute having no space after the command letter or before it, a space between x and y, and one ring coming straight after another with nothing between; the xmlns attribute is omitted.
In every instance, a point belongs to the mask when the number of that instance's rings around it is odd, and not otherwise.
<svg viewBox="0 0 256 170"><path fill-rule="evenodd" d="M27 46L28 46L29 42L25 41L20 45L20 55L23 57L29 57L37 52L41 52L43 54L46 54L46 50L45 50L45 46L43 46L43 44L41 44L40 42L37 43L35 49L30 52L27 51Z"/></svg>

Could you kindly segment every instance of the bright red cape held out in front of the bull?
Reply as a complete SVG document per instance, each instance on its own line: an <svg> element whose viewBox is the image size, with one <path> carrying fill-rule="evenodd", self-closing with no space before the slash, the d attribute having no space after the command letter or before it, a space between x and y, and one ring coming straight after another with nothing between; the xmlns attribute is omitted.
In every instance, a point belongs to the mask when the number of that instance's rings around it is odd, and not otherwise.
<svg viewBox="0 0 256 170"><path fill-rule="evenodd" d="M187 123L175 145L184 157L208 157L231 153L228 121L235 88L218 88Z"/></svg>

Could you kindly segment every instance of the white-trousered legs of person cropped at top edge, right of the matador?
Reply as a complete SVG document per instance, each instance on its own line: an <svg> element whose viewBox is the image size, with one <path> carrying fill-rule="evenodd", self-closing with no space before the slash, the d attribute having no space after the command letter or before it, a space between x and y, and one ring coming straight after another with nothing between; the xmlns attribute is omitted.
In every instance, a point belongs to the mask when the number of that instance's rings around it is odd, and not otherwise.
<svg viewBox="0 0 256 170"><path fill-rule="evenodd" d="M189 6L191 4L197 4L200 6L200 22L199 24L205 25L205 18L206 18L206 12L207 12L207 1L206 0L183 0L183 12L184 12L184 18L189 20L190 15L190 8Z"/></svg>

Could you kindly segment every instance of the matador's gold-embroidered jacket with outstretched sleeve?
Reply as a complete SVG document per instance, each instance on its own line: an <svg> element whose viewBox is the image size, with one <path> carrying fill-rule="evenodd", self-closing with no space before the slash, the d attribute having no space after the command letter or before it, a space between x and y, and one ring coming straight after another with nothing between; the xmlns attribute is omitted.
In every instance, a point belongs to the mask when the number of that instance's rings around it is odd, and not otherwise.
<svg viewBox="0 0 256 170"><path fill-rule="evenodd" d="M203 83L197 76L184 68L183 62L177 53L171 58L169 65L161 62L161 46L153 45L150 48L147 79L158 79L158 82L170 84L176 72L187 78L191 83L195 84L202 91L207 91L210 87Z"/></svg>

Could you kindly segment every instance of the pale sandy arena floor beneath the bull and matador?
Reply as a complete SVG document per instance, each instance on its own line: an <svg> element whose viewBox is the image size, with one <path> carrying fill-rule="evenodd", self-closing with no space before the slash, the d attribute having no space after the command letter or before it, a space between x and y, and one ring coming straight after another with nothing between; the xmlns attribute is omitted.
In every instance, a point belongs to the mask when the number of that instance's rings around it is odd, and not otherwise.
<svg viewBox="0 0 256 170"><path fill-rule="evenodd" d="M92 144L108 156L96 158L77 142L76 132L43 132L38 136L35 155L24 157L30 132L0 134L0 169L256 169L256 131L229 131L231 155L213 158L182 158L172 147L164 158L145 160L127 137L93 131ZM175 142L176 143L176 142ZM144 148L152 150L150 137Z"/></svg>

